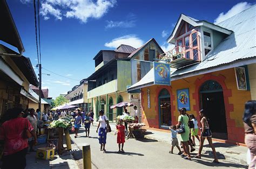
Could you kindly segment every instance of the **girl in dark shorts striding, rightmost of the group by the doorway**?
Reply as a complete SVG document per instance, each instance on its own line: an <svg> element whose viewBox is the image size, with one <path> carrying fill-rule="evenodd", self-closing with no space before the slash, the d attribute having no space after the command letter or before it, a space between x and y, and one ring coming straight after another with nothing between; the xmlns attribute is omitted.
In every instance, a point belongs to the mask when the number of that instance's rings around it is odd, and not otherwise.
<svg viewBox="0 0 256 169"><path fill-rule="evenodd" d="M205 141L205 138L207 138L208 143L212 147L212 152L213 152L213 156L214 156L213 163L219 163L214 145L212 144L212 132L210 130L209 123L208 123L207 118L205 116L205 111L203 109L200 110L199 115L201 117L200 122L201 122L202 128L201 128L201 138L200 138L199 152L198 152L196 158L201 158L201 152L203 150L204 141Z"/></svg>

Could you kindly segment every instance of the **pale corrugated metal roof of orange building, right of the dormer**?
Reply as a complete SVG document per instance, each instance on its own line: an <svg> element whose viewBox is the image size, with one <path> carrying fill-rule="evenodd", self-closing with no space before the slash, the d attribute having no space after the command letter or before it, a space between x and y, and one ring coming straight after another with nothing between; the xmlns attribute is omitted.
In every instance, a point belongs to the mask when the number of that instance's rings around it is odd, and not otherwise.
<svg viewBox="0 0 256 169"><path fill-rule="evenodd" d="M237 15L224 20L218 26L232 30L233 33L200 62L200 64L177 69L171 76L178 76L210 67L217 67L230 62L256 56L255 16L256 5Z"/></svg>

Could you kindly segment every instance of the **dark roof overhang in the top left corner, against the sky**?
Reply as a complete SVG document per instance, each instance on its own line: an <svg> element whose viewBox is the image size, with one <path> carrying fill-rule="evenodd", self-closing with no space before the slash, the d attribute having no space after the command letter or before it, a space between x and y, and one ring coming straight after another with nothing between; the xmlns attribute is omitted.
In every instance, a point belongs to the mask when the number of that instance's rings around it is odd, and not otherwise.
<svg viewBox="0 0 256 169"><path fill-rule="evenodd" d="M5 0L0 0L0 16L0 40L17 47L19 53L22 54L23 52L25 52L24 46L22 44L21 37L19 37L18 30L14 23L14 19L12 19L11 12Z"/></svg>

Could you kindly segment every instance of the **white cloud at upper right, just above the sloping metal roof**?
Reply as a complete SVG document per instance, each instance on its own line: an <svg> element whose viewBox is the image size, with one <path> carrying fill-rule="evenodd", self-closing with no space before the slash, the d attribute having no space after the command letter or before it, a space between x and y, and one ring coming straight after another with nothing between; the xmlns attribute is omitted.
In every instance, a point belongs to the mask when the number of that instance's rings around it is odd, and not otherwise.
<svg viewBox="0 0 256 169"><path fill-rule="evenodd" d="M250 6L252 6L252 4L247 2L240 2L234 5L230 10L228 10L227 13L224 14L224 12L221 12L219 16L214 20L214 24L223 22L224 20L231 18L234 15L237 15L239 12L244 11Z"/></svg>

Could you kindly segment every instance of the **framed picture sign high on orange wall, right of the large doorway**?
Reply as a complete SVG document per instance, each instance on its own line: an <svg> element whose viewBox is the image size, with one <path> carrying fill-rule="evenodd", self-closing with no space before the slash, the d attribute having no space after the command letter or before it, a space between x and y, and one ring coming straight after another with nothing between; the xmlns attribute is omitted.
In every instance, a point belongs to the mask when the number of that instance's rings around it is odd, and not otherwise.
<svg viewBox="0 0 256 169"><path fill-rule="evenodd" d="M235 79L237 79L237 89L247 90L246 75L244 67L235 67Z"/></svg>

